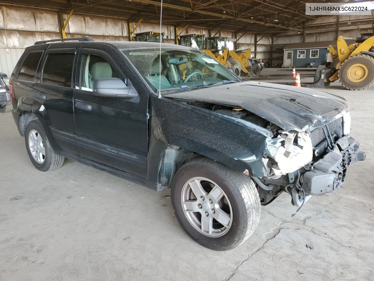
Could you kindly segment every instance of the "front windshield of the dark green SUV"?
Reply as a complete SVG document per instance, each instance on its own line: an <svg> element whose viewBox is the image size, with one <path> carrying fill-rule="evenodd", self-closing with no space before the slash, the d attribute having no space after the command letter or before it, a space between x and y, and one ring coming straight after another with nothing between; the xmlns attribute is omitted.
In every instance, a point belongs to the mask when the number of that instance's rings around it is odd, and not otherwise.
<svg viewBox="0 0 374 281"><path fill-rule="evenodd" d="M181 91L240 82L214 58L192 49L130 49L122 51L155 92ZM160 71L161 69L161 71ZM161 87L160 87L161 86Z"/></svg>

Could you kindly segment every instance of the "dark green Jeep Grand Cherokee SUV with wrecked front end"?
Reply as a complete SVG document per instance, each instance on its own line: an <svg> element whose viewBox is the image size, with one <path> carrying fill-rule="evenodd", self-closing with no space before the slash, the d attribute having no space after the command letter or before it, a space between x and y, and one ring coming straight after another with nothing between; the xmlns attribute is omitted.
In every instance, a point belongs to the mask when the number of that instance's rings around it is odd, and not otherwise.
<svg viewBox="0 0 374 281"><path fill-rule="evenodd" d="M205 247L240 245L261 205L286 192L302 206L365 159L341 97L244 82L185 46L72 40L26 48L10 77L32 163L49 171L66 157L171 188L178 221Z"/></svg>

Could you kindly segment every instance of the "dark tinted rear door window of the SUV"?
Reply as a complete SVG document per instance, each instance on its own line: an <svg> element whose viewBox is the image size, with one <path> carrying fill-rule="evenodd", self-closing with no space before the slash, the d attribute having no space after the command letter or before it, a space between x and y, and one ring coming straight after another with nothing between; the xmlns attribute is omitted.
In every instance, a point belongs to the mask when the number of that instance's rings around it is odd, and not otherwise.
<svg viewBox="0 0 374 281"><path fill-rule="evenodd" d="M71 87L75 54L48 54L42 74L42 83Z"/></svg>

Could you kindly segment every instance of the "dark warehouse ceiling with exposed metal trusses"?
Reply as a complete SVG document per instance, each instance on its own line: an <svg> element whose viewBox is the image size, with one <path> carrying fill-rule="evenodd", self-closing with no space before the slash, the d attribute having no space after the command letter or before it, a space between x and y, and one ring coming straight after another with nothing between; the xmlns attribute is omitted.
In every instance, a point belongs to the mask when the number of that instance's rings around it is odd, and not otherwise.
<svg viewBox="0 0 374 281"><path fill-rule="evenodd" d="M305 3L325 0L163 0L162 21L236 32L301 31L316 17L305 15ZM328 1L331 2L331 1ZM62 12L160 21L161 0L6 0L14 6Z"/></svg>

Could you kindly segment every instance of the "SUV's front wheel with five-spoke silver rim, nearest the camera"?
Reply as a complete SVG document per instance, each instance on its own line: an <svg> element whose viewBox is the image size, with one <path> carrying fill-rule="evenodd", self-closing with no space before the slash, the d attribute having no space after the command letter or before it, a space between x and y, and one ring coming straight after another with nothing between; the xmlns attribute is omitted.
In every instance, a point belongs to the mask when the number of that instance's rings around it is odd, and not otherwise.
<svg viewBox="0 0 374 281"><path fill-rule="evenodd" d="M260 220L260 198L252 179L208 158L194 159L178 170L171 200L182 228L211 250L239 246Z"/></svg>

